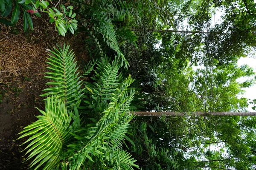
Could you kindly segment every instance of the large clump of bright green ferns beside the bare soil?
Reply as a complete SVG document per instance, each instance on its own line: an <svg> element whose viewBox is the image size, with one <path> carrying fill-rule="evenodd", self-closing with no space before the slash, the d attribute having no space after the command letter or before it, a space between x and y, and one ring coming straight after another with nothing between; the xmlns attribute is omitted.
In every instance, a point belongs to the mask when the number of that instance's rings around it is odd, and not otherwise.
<svg viewBox="0 0 256 170"><path fill-rule="evenodd" d="M120 57L113 62L100 58L85 67L96 73L93 82L79 81L74 55L69 46L50 51L48 64L52 79L45 89L45 111L28 125L18 139L29 136L24 157L33 169L82 170L139 168L122 149L129 122L134 117L129 105L133 80L119 74ZM93 67L94 66L94 67ZM84 88L81 88L84 87ZM131 141L130 139L128 139Z"/></svg>

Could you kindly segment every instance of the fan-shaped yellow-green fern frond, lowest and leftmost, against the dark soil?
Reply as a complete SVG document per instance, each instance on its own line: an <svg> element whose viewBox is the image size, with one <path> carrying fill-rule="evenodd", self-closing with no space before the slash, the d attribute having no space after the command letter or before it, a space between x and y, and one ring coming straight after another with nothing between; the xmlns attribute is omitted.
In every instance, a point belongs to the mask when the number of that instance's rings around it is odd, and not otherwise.
<svg viewBox="0 0 256 170"><path fill-rule="evenodd" d="M39 109L38 109L39 110ZM66 139L70 138L74 126L70 127L71 114L68 115L64 101L47 97L45 112L39 110L43 115L37 116L38 120L24 128L21 133L25 133L18 139L31 136L23 144L30 142L25 148L29 154L26 160L35 159L30 167L35 170L44 164L44 170L51 169L58 163L63 151ZM22 144L22 145L23 145Z"/></svg>

